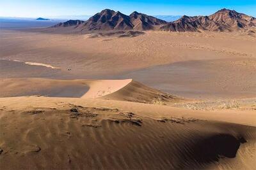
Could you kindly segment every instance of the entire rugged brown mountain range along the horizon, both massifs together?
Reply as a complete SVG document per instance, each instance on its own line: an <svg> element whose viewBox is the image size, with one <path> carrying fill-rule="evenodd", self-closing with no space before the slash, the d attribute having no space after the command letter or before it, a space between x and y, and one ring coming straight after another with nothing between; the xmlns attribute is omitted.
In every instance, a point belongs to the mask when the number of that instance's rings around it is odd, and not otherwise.
<svg viewBox="0 0 256 170"><path fill-rule="evenodd" d="M86 21L68 20L51 28L69 27L77 32L93 31L252 31L256 27L256 18L238 13L234 10L222 9L209 16L182 16L173 22L166 22L156 17L134 11L124 15L120 11L102 10Z"/></svg>

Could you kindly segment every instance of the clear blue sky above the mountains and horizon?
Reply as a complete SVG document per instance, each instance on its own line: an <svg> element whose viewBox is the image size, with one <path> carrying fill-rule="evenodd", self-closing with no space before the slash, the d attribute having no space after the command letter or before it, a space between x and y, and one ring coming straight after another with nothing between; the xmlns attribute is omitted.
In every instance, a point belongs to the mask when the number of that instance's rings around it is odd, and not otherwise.
<svg viewBox="0 0 256 170"><path fill-rule="evenodd" d="M256 0L0 0L1 17L51 17L62 15L93 15L105 8L130 14L148 15L209 15L229 8L256 17Z"/></svg>

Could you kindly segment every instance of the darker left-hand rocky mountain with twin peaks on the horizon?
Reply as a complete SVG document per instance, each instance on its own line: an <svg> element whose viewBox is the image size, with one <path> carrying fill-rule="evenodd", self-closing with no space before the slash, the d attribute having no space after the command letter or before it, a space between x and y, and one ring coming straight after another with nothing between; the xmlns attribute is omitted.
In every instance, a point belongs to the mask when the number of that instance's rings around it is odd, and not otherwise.
<svg viewBox="0 0 256 170"><path fill-rule="evenodd" d="M60 26L72 26L77 25L77 29L81 31L111 31L111 30L149 30L159 27L159 25L167 24L168 22L164 20L157 19L145 15L143 13L138 13L134 11L131 15L124 15L120 11L113 10L102 10L100 13L93 15L86 22L76 20L69 20L63 22L54 27Z"/></svg>

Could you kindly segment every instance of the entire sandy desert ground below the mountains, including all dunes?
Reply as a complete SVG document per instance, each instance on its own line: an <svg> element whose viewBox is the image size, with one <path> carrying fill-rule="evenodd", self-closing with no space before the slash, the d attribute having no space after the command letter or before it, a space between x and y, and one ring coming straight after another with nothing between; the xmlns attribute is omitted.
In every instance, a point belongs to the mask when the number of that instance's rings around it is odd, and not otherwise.
<svg viewBox="0 0 256 170"><path fill-rule="evenodd" d="M0 31L3 169L253 169L256 38Z"/></svg>

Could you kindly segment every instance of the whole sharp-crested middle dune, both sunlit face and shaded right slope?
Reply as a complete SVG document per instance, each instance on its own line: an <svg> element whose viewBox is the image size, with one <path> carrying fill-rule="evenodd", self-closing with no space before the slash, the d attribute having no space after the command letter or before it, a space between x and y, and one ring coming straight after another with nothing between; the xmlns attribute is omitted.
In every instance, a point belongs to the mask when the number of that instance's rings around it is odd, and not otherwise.
<svg viewBox="0 0 256 170"><path fill-rule="evenodd" d="M127 80L52 80L44 78L12 78L0 80L0 97L49 96L102 97L117 101L161 104L184 100Z"/></svg>

